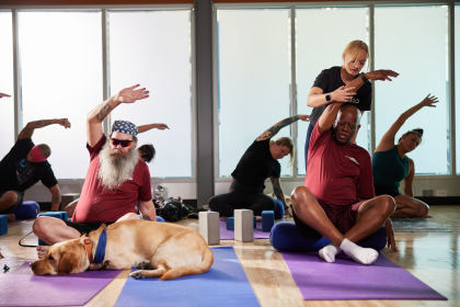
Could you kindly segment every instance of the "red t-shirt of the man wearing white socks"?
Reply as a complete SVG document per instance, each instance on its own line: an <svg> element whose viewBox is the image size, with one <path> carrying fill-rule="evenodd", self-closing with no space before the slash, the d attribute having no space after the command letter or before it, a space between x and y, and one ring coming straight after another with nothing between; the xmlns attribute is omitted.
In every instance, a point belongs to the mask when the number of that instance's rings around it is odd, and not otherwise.
<svg viewBox="0 0 460 307"><path fill-rule="evenodd" d="M375 197L370 155L355 144L340 145L332 129L314 126L308 150L307 186L320 203L350 205Z"/></svg>

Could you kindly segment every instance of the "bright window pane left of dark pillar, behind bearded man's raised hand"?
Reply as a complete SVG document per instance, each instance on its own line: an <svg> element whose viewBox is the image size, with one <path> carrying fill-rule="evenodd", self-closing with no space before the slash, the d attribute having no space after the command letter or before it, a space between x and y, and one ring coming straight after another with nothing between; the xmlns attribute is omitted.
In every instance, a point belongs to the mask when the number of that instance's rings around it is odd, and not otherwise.
<svg viewBox="0 0 460 307"><path fill-rule="evenodd" d="M150 98L120 105L112 120L165 123L168 130L139 135L153 144L152 177L192 177L191 11L110 11L111 92L140 83Z"/></svg>

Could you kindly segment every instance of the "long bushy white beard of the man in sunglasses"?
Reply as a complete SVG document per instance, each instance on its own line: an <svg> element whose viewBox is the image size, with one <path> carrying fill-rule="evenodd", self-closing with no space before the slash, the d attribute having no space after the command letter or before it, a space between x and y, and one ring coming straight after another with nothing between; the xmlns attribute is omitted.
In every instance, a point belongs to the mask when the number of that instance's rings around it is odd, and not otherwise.
<svg viewBox="0 0 460 307"><path fill-rule="evenodd" d="M108 190L114 190L133 179L134 169L139 160L135 147L131 147L126 156L114 155L116 149L111 149L107 141L99 154L97 178Z"/></svg>

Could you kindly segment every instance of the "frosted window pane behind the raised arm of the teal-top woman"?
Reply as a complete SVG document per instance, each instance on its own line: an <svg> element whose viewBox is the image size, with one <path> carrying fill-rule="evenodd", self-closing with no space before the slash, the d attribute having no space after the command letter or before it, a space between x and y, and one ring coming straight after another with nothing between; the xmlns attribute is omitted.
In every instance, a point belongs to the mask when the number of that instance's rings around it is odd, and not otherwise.
<svg viewBox="0 0 460 307"><path fill-rule="evenodd" d="M396 141L406 130L423 128L423 143L409 154L416 173L449 173L448 8L376 7L375 13L376 67L400 72L392 82L376 83L377 144L402 112L435 94L438 106L410 117Z"/></svg>

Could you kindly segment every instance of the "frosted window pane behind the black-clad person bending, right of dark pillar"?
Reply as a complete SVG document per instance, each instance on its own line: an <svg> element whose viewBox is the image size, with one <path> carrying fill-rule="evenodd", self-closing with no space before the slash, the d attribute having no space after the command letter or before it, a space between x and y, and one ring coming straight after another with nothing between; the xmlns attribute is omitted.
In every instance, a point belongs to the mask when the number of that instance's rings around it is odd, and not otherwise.
<svg viewBox="0 0 460 307"><path fill-rule="evenodd" d="M219 175L229 177L265 129L290 115L289 10L218 10ZM274 139L290 136L290 127ZM290 174L288 158L281 174Z"/></svg>

